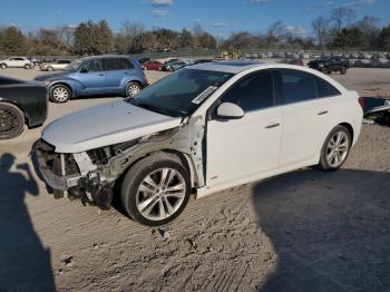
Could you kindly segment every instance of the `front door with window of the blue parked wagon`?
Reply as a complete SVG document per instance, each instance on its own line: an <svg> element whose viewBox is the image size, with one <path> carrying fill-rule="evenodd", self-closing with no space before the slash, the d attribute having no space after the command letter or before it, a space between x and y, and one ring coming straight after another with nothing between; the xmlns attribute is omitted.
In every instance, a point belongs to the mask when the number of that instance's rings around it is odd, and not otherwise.
<svg viewBox="0 0 390 292"><path fill-rule="evenodd" d="M80 93L97 94L105 89L105 72L101 59L89 60L77 72L77 80L82 85Z"/></svg>

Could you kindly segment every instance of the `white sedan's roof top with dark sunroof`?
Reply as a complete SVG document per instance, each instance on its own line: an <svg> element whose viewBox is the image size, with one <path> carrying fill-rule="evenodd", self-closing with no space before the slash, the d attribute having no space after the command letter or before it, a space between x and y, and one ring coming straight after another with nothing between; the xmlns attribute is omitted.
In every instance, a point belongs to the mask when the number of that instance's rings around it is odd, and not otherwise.
<svg viewBox="0 0 390 292"><path fill-rule="evenodd" d="M197 70L222 71L237 74L246 69L263 67L264 62L251 61L251 60L237 60L237 61L213 61L203 62L189 66L187 68Z"/></svg>

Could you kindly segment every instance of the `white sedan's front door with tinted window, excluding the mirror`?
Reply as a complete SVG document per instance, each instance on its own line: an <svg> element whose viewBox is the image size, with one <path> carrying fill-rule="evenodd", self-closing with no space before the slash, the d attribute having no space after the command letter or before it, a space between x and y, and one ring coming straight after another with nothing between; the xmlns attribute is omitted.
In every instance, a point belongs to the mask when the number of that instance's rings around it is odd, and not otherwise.
<svg viewBox="0 0 390 292"><path fill-rule="evenodd" d="M238 80L222 96L218 104L222 103L238 105L245 115L241 119L211 115L207 186L245 179L276 168L282 115L280 108L274 107L272 71L261 70Z"/></svg>

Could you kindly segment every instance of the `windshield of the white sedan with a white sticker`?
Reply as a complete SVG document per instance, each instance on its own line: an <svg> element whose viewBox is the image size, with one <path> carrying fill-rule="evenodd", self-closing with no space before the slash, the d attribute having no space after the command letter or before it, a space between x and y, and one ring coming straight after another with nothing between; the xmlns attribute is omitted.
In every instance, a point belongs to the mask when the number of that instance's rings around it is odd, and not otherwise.
<svg viewBox="0 0 390 292"><path fill-rule="evenodd" d="M146 87L128 103L167 116L188 116L232 76L228 72L182 69Z"/></svg>

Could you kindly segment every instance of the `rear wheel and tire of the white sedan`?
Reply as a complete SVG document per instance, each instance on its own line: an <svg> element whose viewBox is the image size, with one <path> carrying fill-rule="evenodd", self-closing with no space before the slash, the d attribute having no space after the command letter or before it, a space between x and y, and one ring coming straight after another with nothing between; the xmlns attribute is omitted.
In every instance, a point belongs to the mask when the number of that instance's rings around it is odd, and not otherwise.
<svg viewBox="0 0 390 292"><path fill-rule="evenodd" d="M319 167L323 171L339 169L345 163L351 146L350 132L341 125L335 126L322 146Z"/></svg>

